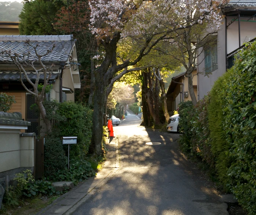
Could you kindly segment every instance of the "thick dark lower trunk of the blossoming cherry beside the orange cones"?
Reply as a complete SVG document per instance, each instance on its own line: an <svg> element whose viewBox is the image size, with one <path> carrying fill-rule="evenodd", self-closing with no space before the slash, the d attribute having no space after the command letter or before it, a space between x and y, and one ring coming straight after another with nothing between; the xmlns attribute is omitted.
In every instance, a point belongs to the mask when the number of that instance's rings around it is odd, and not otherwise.
<svg viewBox="0 0 256 215"><path fill-rule="evenodd" d="M100 75L99 75L100 76ZM95 79L95 95L93 110L93 136L91 144L96 154L102 154L102 134L103 134L103 110L107 85L98 77Z"/></svg>

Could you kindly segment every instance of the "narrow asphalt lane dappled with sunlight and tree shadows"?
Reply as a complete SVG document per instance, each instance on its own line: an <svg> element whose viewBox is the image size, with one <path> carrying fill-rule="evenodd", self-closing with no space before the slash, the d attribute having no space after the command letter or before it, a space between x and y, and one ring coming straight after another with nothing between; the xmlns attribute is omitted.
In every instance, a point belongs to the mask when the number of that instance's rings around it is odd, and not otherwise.
<svg viewBox="0 0 256 215"><path fill-rule="evenodd" d="M140 123L129 115L114 126L120 168L73 214L228 215L216 190L179 151L179 134L152 131Z"/></svg>

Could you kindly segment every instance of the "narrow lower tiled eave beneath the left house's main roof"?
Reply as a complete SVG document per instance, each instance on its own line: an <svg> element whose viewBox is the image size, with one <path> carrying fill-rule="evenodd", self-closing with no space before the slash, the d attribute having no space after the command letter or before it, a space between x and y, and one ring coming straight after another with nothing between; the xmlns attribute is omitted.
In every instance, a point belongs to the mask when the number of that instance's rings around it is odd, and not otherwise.
<svg viewBox="0 0 256 215"><path fill-rule="evenodd" d="M48 78L49 73L47 73ZM35 72L28 72L28 77L30 80L36 80L36 73ZM51 73L50 80L55 80L58 77L58 72L54 71ZM21 74L22 80L26 80L24 74ZM0 81L18 81L19 80L19 72L1 72L0 71ZM40 80L44 80L44 74L41 73Z"/></svg>

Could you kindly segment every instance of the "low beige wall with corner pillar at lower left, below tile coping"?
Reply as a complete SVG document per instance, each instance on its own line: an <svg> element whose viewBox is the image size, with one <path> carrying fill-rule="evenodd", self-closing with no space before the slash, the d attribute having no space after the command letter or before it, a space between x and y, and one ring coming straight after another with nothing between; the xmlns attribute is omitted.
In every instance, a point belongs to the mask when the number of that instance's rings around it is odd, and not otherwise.
<svg viewBox="0 0 256 215"><path fill-rule="evenodd" d="M34 136L20 136L20 129L6 127L0 129L0 178L34 167Z"/></svg>

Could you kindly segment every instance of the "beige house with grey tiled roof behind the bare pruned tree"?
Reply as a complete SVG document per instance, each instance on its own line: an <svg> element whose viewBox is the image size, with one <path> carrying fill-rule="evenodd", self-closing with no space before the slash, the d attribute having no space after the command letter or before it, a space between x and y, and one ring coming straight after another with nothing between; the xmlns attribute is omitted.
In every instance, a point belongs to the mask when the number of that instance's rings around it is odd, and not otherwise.
<svg viewBox="0 0 256 215"><path fill-rule="evenodd" d="M29 44L27 41L29 40ZM47 99L57 101L75 101L74 91L80 88L80 76L76 55L76 40L72 35L43 35L43 36L0 36L0 52L9 50L13 54L22 56L25 61L33 61L34 66L40 69L40 63L35 54L33 46L37 45L37 53L44 55L47 50L53 50L42 57L44 65L51 65L51 71L47 72L47 77L51 73L49 83L53 85L51 92L46 95ZM29 79L36 80L36 73L32 68L26 66ZM21 79L28 89L33 87L28 83L24 74ZM40 74L39 83L44 83L44 74ZM30 106L35 103L32 95L26 92L21 85L18 68L7 55L0 54L0 92L14 95L16 103L12 105L9 112L21 112L25 121L31 122L31 126L26 132L36 132L37 127L42 125L42 120ZM21 131L25 132L25 131Z"/></svg>

